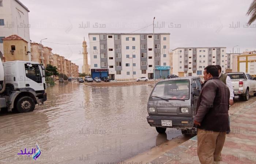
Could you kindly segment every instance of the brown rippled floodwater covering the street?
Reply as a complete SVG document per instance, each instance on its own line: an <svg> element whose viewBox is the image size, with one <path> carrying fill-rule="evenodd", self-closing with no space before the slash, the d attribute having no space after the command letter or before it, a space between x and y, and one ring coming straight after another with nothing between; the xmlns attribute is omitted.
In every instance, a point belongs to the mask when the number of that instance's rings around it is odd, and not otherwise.
<svg viewBox="0 0 256 164"><path fill-rule="evenodd" d="M179 136L147 123L150 85L89 88L76 81L48 87L29 113L0 113L0 163L118 163ZM37 151L37 149L36 149ZM32 151L31 151L32 152Z"/></svg>

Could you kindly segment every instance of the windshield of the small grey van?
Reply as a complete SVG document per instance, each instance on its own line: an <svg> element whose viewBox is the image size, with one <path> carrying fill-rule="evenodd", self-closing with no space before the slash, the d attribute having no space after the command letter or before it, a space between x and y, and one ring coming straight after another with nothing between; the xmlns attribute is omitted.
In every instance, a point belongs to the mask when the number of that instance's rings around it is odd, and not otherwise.
<svg viewBox="0 0 256 164"><path fill-rule="evenodd" d="M189 99L189 80L170 80L158 82L150 99Z"/></svg>

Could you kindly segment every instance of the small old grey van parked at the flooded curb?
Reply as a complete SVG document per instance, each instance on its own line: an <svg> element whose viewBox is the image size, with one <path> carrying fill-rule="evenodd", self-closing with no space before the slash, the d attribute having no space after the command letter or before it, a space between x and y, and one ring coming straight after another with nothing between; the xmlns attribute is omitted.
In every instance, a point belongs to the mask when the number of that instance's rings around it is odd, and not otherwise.
<svg viewBox="0 0 256 164"><path fill-rule="evenodd" d="M182 134L196 134L193 116L201 89L200 77L159 81L148 99L148 124L158 133L174 128L181 129Z"/></svg>

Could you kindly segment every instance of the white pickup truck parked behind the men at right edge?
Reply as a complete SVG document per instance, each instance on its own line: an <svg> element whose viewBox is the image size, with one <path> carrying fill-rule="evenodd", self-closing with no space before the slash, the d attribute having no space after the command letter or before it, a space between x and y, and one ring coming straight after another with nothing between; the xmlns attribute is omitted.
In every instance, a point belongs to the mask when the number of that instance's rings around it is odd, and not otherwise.
<svg viewBox="0 0 256 164"><path fill-rule="evenodd" d="M234 88L234 95L241 96L244 101L248 101L249 94L256 96L256 80L252 75L244 72L227 73Z"/></svg>

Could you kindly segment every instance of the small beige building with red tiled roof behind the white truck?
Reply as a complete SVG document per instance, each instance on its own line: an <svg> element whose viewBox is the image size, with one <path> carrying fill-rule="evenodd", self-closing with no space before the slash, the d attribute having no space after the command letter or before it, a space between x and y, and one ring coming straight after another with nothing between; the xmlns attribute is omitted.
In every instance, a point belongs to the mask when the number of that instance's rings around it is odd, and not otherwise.
<svg viewBox="0 0 256 164"><path fill-rule="evenodd" d="M29 61L30 51L28 42L18 35L8 36L3 40L5 61L23 60Z"/></svg>

